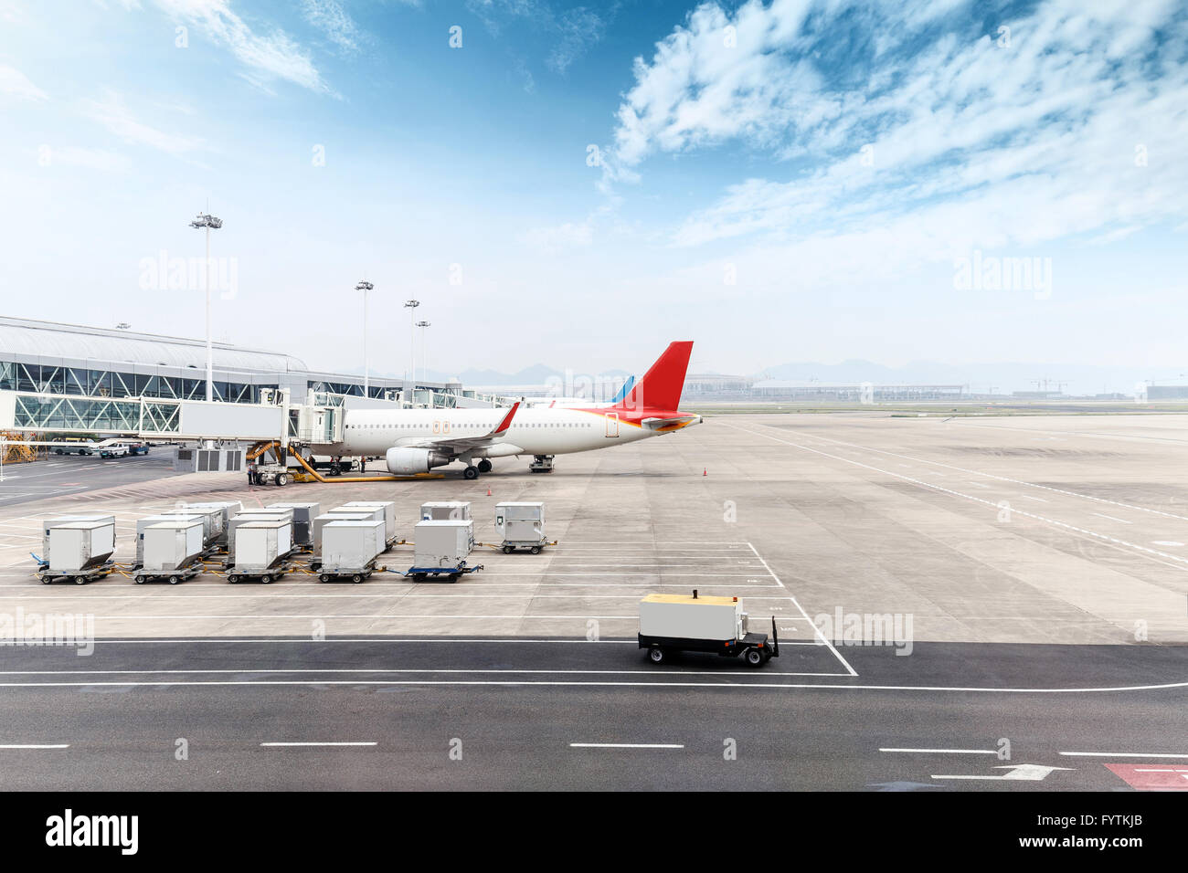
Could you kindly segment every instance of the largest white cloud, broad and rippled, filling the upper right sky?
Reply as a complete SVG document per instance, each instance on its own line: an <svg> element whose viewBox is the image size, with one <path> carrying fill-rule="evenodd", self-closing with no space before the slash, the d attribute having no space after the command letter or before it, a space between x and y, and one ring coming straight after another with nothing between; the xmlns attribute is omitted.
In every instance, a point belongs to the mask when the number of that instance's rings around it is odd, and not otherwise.
<svg viewBox="0 0 1188 873"><path fill-rule="evenodd" d="M1188 139L1188 70L1177 63L1188 25L1174 10L1049 1L1011 20L1003 46L980 19L962 30L947 18L943 33L921 36L914 27L929 19L916 7L861 18L832 4L751 0L733 17L701 6L651 62L637 59L608 175L644 171L665 152L769 154L781 178L752 165L672 240L751 238L739 257L772 283L788 264L798 279L832 284L973 247L1132 234L1188 204L1188 166L1170 157ZM860 76L838 69L845 58L832 69L820 61L855 18L899 40Z"/></svg>

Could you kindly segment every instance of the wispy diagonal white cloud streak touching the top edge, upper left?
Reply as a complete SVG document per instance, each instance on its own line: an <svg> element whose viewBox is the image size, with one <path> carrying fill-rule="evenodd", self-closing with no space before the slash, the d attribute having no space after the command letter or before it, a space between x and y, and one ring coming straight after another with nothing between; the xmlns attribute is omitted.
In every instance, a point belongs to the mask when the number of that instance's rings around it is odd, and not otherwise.
<svg viewBox="0 0 1188 873"><path fill-rule="evenodd" d="M232 12L229 0L156 0L175 19L198 27L247 67L247 81L268 90L271 82L282 80L312 91L330 93L308 51L283 30L257 33Z"/></svg>

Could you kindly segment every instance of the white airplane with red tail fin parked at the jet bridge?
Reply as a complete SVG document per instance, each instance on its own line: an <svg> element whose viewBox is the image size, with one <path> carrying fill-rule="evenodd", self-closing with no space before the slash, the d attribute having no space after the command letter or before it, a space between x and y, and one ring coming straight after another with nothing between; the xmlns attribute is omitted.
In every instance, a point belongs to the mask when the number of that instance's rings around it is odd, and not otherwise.
<svg viewBox="0 0 1188 873"><path fill-rule="evenodd" d="M701 416L678 409L691 352L691 341L670 343L613 406L347 410L341 442L311 448L320 455L384 456L394 475L461 461L463 476L478 479L491 472L491 458L519 455L533 456L533 473L551 473L554 455L606 449L700 424Z"/></svg>

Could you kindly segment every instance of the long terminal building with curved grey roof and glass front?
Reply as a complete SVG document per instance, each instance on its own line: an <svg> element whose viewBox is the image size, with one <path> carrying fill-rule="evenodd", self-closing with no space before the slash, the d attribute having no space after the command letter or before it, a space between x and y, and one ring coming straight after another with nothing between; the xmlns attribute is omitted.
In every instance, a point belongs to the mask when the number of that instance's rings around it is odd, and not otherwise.
<svg viewBox="0 0 1188 873"><path fill-rule="evenodd" d="M364 399L362 377L310 369L293 355L213 344L216 401ZM182 404L206 400L204 340L0 317L0 429L173 432ZM410 388L405 393L405 388ZM457 381L371 377L368 398L418 406L489 405Z"/></svg>

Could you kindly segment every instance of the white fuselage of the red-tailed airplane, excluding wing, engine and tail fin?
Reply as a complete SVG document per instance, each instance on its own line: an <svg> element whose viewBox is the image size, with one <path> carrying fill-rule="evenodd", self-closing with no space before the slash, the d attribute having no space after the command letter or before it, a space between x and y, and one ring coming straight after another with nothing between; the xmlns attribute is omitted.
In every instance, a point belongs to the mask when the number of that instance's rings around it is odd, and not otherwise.
<svg viewBox="0 0 1188 873"><path fill-rule="evenodd" d="M506 409L489 410L349 410L342 442L318 447L333 455L383 455L393 447L424 445L437 439L479 439L499 426ZM624 422L612 410L520 407L511 426L475 457L565 455L634 442L656 431Z"/></svg>

